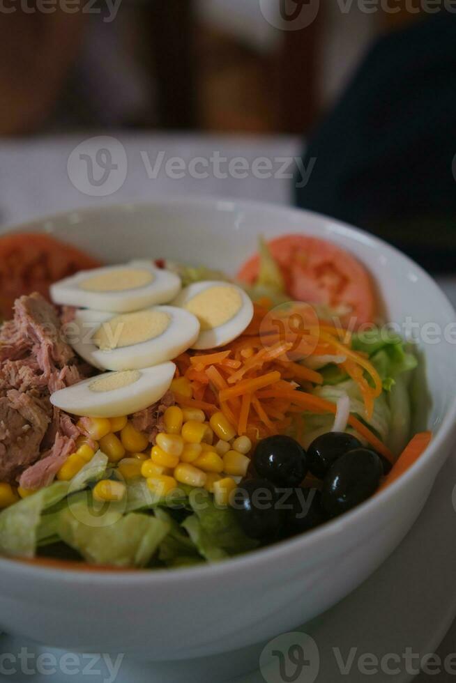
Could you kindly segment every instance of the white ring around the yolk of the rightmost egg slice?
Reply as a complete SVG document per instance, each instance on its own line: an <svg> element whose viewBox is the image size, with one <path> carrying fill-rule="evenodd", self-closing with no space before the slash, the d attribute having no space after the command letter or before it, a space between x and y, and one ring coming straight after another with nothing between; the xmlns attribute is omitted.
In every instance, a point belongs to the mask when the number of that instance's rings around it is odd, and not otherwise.
<svg viewBox="0 0 456 683"><path fill-rule="evenodd" d="M231 284L229 282L195 282L190 284L185 289L178 293L178 296L174 299L173 305L181 307L185 310L185 306L188 302L192 300L197 294L205 291L206 289L211 289L212 287L219 286L229 286L236 289L239 296L241 296L242 305L234 316L222 325L212 328L211 330L201 330L199 332L199 337L197 341L192 344L191 348L203 350L207 348L217 348L218 346L225 346L229 344L233 339L239 337L244 332L245 328L248 328L250 322L253 318L253 304L250 297L237 285Z"/></svg>

